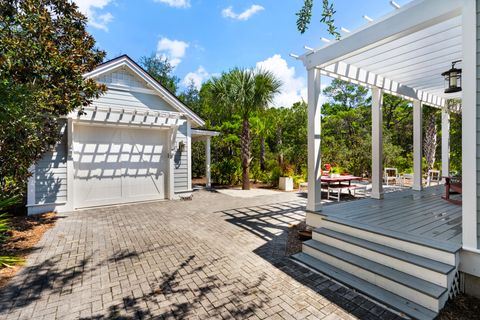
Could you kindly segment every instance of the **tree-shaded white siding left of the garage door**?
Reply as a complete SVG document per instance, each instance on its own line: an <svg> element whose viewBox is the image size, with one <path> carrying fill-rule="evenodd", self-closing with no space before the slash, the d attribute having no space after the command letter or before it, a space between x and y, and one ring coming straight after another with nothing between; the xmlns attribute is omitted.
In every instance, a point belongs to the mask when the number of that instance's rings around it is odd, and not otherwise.
<svg viewBox="0 0 480 320"><path fill-rule="evenodd" d="M66 123L61 126L62 139L35 166L35 203L67 201Z"/></svg>

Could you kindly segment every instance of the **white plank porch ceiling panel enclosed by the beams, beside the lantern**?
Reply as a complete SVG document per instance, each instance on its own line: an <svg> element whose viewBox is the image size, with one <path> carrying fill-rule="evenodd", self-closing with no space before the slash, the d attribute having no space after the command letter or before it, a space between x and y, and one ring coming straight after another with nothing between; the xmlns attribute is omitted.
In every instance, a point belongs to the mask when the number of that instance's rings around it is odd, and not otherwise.
<svg viewBox="0 0 480 320"><path fill-rule="evenodd" d="M444 93L441 73L457 60L462 60L460 16L351 55L343 62L402 85L451 98L452 94Z"/></svg>

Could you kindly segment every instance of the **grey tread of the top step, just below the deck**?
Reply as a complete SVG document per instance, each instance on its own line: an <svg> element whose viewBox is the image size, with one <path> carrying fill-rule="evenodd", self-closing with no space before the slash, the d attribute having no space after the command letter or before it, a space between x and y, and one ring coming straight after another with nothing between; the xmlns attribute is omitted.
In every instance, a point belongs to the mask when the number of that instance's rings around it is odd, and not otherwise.
<svg viewBox="0 0 480 320"><path fill-rule="evenodd" d="M426 268L426 269L429 269L429 270L432 270L432 271L435 271L435 272L438 272L438 273L448 274L452 270L455 269L454 266L446 264L446 263L438 262L438 261L428 259L428 258L419 256L419 255L416 255L416 254L411 254L411 253L408 253L406 251L402 251L402 250L398 250L398 249L391 248L391 247L388 247L388 246L384 246L384 245L381 245L381 244L378 244L378 243L375 243L375 242L360 239L360 238L350 236L350 235L345 234L345 233L337 232L337 231L334 231L334 230L329 230L329 229L326 229L326 228L318 228L318 229L314 230L314 233L322 234L322 235L332 237L332 238L335 238L335 239L338 239L338 240L341 240L341 241L344 241L344 242L348 242L348 243L351 243L351 244L356 245L358 247L362 247L362 248L365 248L365 249L368 249L368 250L371 250L371 251L375 251L375 252L378 252L380 254L390 256L392 258L402 260L402 261L405 261L405 262L408 262L408 263L414 264L416 266Z"/></svg>

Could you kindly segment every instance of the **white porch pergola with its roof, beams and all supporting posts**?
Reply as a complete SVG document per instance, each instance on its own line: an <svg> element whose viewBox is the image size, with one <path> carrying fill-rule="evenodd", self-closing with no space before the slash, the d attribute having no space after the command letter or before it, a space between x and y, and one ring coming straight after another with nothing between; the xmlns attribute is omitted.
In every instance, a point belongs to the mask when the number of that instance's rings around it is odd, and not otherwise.
<svg viewBox="0 0 480 320"><path fill-rule="evenodd" d="M382 95L412 101L414 184L422 188L422 106L442 109L442 175L449 173L446 99L461 98L463 245L477 250L476 1L414 0L363 28L298 57L308 71L308 204L321 211L322 75L361 84L372 93L372 198L382 190ZM462 92L445 94L441 73L462 60Z"/></svg>

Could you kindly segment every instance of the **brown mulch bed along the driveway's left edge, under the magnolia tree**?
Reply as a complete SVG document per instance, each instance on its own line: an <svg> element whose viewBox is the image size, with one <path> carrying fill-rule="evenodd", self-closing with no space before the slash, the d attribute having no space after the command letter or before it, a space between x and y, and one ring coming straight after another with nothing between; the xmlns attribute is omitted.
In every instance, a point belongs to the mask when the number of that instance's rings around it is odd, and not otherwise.
<svg viewBox="0 0 480 320"><path fill-rule="evenodd" d="M0 256L15 256L26 258L34 250L43 234L55 225L57 215L45 213L36 216L12 217L10 221L11 231L9 239L0 244ZM4 286L12 278L21 265L4 267L0 266L0 287Z"/></svg>

